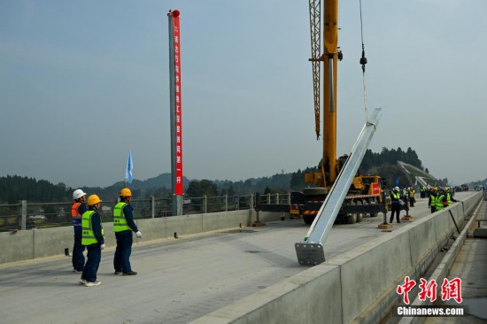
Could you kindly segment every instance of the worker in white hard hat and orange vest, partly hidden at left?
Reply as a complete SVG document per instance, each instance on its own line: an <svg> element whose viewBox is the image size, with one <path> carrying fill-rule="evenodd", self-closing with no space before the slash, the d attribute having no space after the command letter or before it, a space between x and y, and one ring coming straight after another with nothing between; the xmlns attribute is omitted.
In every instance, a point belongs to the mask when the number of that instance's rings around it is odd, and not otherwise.
<svg viewBox="0 0 487 324"><path fill-rule="evenodd" d="M86 194L81 189L76 189L73 191L74 203L71 206L71 218L73 221L74 229L74 245L73 245L73 273L81 274L84 267L84 255L85 246L81 244L81 217L84 212L86 212L85 203Z"/></svg>

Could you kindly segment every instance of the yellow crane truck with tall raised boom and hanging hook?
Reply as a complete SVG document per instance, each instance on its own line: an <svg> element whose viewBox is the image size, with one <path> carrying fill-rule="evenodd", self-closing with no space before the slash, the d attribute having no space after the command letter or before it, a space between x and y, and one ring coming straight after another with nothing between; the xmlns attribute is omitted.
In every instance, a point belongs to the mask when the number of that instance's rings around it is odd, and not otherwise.
<svg viewBox="0 0 487 324"><path fill-rule="evenodd" d="M257 210L285 211L290 212L291 215L302 216L306 224L313 223L348 158L346 155L336 158L336 80L338 61L343 58L343 53L338 47L338 0L323 0L322 8L321 0L309 0L309 12L312 47L312 58L309 60L313 65L314 119L317 139L320 139L321 124L321 67L323 75L323 150L318 166L319 171L305 174L305 183L311 183L312 186L303 189L302 192L291 192L290 205L278 207L258 204L256 206ZM360 64L365 73L367 58L363 46ZM385 182L378 175L358 173L352 181L336 221L351 224L361 221L366 214L375 217L378 212L385 212L384 184Z"/></svg>

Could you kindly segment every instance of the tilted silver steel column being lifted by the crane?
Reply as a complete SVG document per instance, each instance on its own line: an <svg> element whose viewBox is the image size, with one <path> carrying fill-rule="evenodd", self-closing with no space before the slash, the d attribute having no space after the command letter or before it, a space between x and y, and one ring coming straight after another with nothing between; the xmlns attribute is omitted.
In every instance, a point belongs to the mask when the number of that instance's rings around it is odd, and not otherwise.
<svg viewBox="0 0 487 324"><path fill-rule="evenodd" d="M353 178L359 170L360 163L375 133L375 128L379 124L381 113L382 109L376 108L362 128L357 142L353 145L352 153L347 158L335 184L321 205L305 240L294 244L300 265L314 266L325 261L323 244L327 240L329 231L336 220L336 215L344 203L344 198L352 185Z"/></svg>

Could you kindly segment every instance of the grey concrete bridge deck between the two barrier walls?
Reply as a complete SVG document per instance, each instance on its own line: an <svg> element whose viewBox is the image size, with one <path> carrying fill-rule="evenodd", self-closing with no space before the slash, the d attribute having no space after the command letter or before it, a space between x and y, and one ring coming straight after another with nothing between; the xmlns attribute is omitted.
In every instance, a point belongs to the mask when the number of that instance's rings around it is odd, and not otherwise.
<svg viewBox="0 0 487 324"><path fill-rule="evenodd" d="M471 193L458 193L457 198ZM411 214L429 215L425 199ZM326 258L386 235L383 218L336 225L325 244ZM394 224L404 228L409 224ZM66 257L0 266L3 323L187 323L249 297L308 269L299 266L294 243L308 227L284 220L261 228L236 228L135 243L132 266L139 274L113 274L113 248L103 251L98 287L84 287Z"/></svg>

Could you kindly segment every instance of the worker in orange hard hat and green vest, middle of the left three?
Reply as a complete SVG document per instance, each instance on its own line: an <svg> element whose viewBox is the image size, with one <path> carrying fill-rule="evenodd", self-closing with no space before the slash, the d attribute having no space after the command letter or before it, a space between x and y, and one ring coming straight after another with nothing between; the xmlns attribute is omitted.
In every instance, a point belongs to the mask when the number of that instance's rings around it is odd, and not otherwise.
<svg viewBox="0 0 487 324"><path fill-rule="evenodd" d="M102 220L97 210L100 208L102 200L97 195L88 197L88 211L83 212L81 218L82 239L81 243L88 250L88 260L81 274L81 282L86 287L98 286L101 282L97 281L98 266L104 250L104 229Z"/></svg>

